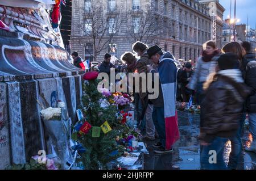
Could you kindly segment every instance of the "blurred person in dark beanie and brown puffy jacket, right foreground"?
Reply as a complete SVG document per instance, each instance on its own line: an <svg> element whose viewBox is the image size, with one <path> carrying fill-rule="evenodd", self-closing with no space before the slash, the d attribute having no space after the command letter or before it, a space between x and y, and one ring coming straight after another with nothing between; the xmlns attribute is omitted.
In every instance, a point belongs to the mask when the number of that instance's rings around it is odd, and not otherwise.
<svg viewBox="0 0 256 181"><path fill-rule="evenodd" d="M217 61L217 73L204 84L199 136L203 145L201 169L227 169L223 159L225 143L237 133L243 103L251 91L243 83L236 54L222 54ZM216 151L216 164L209 163L211 150Z"/></svg>

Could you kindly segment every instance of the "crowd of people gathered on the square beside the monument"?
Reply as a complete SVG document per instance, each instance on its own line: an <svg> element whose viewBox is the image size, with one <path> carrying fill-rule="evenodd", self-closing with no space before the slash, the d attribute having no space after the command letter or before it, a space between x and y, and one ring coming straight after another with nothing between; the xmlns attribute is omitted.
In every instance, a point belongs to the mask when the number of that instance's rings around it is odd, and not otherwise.
<svg viewBox="0 0 256 181"><path fill-rule="evenodd" d="M135 53L134 53L135 52ZM72 54L74 65L80 66L81 58ZM139 58L137 58L139 57ZM246 114L249 116L249 130L253 142L246 151L256 153L256 59L247 42L230 42L220 50L213 41L203 44L203 52L193 67L184 62L178 68L175 57L163 52L158 45L148 47L138 41L133 52L125 52L121 61L110 62L111 55L105 54L100 66L92 71L109 74L115 72L155 73L159 75L159 95L149 99L148 90L134 92L134 103L139 126L146 130L144 139L155 140L155 153L170 153L172 145L179 139L176 101L188 102L194 96L200 105L200 157L201 169L237 169L242 152L242 128ZM122 64L121 62L125 62ZM153 78L154 80L154 78ZM230 140L232 151L228 166L224 163L223 152L226 141ZM216 162L209 162L209 151L216 151Z"/></svg>

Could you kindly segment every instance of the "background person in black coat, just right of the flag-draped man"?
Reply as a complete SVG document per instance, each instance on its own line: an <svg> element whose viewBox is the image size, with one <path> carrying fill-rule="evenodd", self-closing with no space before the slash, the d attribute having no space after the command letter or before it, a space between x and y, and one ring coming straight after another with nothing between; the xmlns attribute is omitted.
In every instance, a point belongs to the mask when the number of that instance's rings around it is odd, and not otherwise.
<svg viewBox="0 0 256 181"><path fill-rule="evenodd" d="M184 102L189 102L190 95L192 94L191 90L187 88L189 79L192 75L192 65L191 63L185 63L184 70L180 71L179 82L181 84L181 96Z"/></svg>

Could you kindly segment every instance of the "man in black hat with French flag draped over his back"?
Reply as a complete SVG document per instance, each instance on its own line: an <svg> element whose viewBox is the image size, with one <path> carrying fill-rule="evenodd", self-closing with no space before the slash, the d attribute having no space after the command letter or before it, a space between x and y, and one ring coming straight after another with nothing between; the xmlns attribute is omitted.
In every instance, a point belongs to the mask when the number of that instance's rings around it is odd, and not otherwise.
<svg viewBox="0 0 256 181"><path fill-rule="evenodd" d="M174 56L170 52L163 53L158 45L147 50L156 70L152 66L147 69L153 75L159 75L159 95L156 99L150 99L154 104L152 118L158 131L160 142L153 145L155 153L170 153L172 145L179 139L179 129L177 125L176 111L176 81L177 68L174 63ZM153 78L154 79L154 78Z"/></svg>

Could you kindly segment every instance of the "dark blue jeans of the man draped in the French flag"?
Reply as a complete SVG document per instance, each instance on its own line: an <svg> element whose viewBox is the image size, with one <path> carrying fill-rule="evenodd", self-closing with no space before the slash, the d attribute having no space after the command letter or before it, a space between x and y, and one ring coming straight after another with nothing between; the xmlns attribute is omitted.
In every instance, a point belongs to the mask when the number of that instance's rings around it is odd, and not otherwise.
<svg viewBox="0 0 256 181"><path fill-rule="evenodd" d="M166 147L166 120L164 119L164 107L155 107L152 112L155 129L159 134L160 142Z"/></svg>

